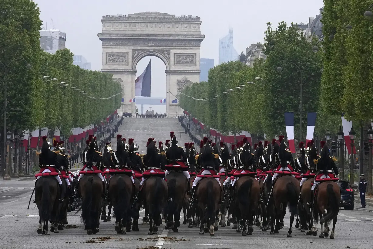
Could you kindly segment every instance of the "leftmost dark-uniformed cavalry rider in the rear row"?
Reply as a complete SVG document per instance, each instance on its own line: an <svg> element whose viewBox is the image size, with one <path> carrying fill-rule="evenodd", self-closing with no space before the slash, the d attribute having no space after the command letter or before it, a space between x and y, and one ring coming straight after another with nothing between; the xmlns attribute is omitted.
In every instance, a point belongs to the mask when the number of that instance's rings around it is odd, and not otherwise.
<svg viewBox="0 0 373 249"><path fill-rule="evenodd" d="M43 136L42 139L43 139L43 145L41 146L41 153L39 153L39 167L40 167L39 173L59 172L60 162L57 158L57 153L59 152L54 152L50 150L51 143L47 141L47 136ZM41 176L38 176L36 178L35 185L38 179L40 178ZM63 186L62 186L61 178L59 177L59 175L56 175L54 178L56 178L56 180L59 183L60 193L63 193ZM60 195L59 202L63 202L61 195ZM34 203L36 203L35 200L34 200Z"/></svg>

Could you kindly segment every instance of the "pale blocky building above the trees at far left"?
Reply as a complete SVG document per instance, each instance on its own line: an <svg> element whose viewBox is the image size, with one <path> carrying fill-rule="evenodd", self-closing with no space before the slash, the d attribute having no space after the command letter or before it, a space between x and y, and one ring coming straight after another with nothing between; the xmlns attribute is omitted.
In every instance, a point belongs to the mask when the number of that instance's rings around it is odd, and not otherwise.
<svg viewBox="0 0 373 249"><path fill-rule="evenodd" d="M66 33L58 29L40 30L40 47L45 52L54 54L59 49L65 49Z"/></svg>

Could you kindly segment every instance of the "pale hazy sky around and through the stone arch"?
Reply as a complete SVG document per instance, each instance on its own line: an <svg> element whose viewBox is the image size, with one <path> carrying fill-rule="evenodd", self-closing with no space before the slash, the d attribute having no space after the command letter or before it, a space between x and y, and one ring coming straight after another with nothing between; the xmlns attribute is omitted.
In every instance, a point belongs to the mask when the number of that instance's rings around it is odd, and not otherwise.
<svg viewBox="0 0 373 249"><path fill-rule="evenodd" d="M263 42L267 22L277 26L278 22L288 24L306 23L308 17L319 14L322 0L35 0L40 8L43 28L60 29L66 32L66 47L75 55L84 56L91 62L92 70L102 68L101 33L103 15L133 14L157 11L176 16L200 16L201 33L206 35L201 44L201 57L213 58L218 63L219 38L228 34L228 26L233 28L233 47L240 54L251 43ZM51 19L53 19L53 24ZM150 57L143 58L137 65L137 75L144 71ZM152 57L151 95L166 96L166 66L162 60ZM154 111L157 111L153 108ZM165 107L162 109L165 111ZM164 112L162 111L162 112ZM160 111L158 111L160 112Z"/></svg>

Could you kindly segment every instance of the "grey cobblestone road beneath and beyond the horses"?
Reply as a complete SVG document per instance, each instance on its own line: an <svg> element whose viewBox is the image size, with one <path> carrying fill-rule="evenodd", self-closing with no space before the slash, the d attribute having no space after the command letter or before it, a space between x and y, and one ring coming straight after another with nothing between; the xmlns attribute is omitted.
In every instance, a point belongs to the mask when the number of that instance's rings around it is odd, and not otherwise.
<svg viewBox="0 0 373 249"><path fill-rule="evenodd" d="M128 118L120 127L119 132L123 137L135 138L140 149L145 150L148 137L155 137L157 141L168 139L169 131L182 131L177 119L150 119ZM182 134L182 144L187 140ZM180 140L180 135L178 134ZM115 141L113 141L115 142ZM180 141L179 141L179 144ZM341 210L336 224L335 239L320 239L318 236L306 236L293 227L292 238L287 238L289 226L288 215L285 218L285 227L279 234L270 235L254 227L253 236L242 237L231 227L219 227L215 236L199 235L199 229L187 228L181 225L179 233L164 230L161 225L157 235L148 235L148 224L140 224L139 232L126 235L116 234L114 221L101 222L100 232L91 236L87 235L84 225L81 224L79 215L70 212L69 225L78 226L69 228L50 236L38 235L38 210L32 205L27 210L34 179L25 181L0 181L0 248L15 249L40 249L40 248L157 248L173 249L210 249L210 248L372 248L373 239L373 208L355 208L354 211ZM355 206L358 204L355 203ZM140 218L144 216L141 211ZM141 219L140 219L141 220ZM181 219L183 221L183 218ZM295 223L294 223L295 224ZM293 224L293 226L294 226ZM319 228L320 230L320 228ZM88 241L95 242L89 243ZM101 242L101 243L99 243Z"/></svg>

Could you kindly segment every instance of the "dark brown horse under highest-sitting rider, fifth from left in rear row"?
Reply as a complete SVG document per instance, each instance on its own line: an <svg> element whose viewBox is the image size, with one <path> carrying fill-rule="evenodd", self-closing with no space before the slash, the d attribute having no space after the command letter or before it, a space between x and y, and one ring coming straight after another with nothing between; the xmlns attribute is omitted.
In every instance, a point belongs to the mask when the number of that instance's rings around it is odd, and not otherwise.
<svg viewBox="0 0 373 249"><path fill-rule="evenodd" d="M180 212L185 203L185 193L188 189L188 181L181 171L172 171L166 176L168 201L164 207L166 227L178 233L180 227Z"/></svg>

